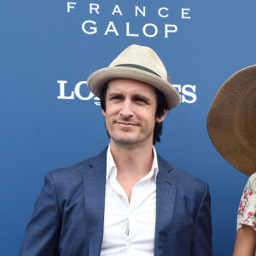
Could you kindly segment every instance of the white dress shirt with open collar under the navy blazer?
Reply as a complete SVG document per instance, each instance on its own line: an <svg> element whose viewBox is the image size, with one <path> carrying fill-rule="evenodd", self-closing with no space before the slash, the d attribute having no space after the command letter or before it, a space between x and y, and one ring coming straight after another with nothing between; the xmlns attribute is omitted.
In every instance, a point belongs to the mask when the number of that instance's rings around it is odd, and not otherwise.
<svg viewBox="0 0 256 256"><path fill-rule="evenodd" d="M151 171L134 185L129 204L117 181L117 169L108 146L104 231L101 256L153 256L156 212L157 155Z"/></svg>

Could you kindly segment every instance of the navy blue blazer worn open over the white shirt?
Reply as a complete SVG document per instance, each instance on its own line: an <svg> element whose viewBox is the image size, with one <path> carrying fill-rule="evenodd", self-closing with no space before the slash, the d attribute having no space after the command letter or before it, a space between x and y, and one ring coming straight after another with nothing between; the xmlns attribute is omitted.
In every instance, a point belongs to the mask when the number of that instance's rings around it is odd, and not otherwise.
<svg viewBox="0 0 256 256"><path fill-rule="evenodd" d="M106 154L49 172L20 256L101 253ZM211 256L211 202L201 182L158 155L154 256ZM137 256L137 255L136 255Z"/></svg>

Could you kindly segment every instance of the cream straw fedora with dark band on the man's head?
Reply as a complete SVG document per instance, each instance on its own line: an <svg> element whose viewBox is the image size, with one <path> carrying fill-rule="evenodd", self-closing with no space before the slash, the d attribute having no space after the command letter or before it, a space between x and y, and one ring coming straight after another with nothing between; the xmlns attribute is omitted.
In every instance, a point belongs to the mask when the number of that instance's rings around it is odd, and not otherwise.
<svg viewBox="0 0 256 256"><path fill-rule="evenodd" d="M150 84L166 96L169 109L177 107L180 96L168 81L166 67L160 57L146 46L132 44L109 65L87 79L90 91L100 96L102 86L111 79L134 79Z"/></svg>

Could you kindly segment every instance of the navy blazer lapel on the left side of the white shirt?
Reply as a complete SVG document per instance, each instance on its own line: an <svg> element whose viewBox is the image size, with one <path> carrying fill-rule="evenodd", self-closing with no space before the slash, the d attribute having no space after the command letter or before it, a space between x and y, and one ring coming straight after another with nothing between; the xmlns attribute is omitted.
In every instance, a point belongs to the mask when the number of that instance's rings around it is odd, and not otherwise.
<svg viewBox="0 0 256 256"><path fill-rule="evenodd" d="M107 150L88 163L84 171L84 205L89 255L100 255L104 227Z"/></svg>

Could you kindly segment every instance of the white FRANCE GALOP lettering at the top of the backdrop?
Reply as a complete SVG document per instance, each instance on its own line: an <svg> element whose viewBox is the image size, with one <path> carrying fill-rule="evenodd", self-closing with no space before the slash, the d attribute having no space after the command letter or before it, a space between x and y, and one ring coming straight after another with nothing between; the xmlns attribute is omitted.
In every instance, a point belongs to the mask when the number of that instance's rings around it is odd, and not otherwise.
<svg viewBox="0 0 256 256"><path fill-rule="evenodd" d="M95 1L96 2L96 1ZM79 2L67 2L67 13L71 14L79 9ZM138 18L144 18L148 20L149 11L153 14L153 10L149 6L145 5L135 5L129 10L130 19L133 22L127 20L127 11L120 4L109 5L109 9L106 7L101 8L100 3L89 3L86 7L86 15L90 16L89 20L84 20L81 24L82 32L87 35L95 35L96 33L101 33L104 36L113 35L116 37L126 36L126 37L147 37L154 38L160 35L163 38L169 38L172 34L177 32L177 23L170 24L173 22L173 16L176 17L177 22L180 20L190 20L190 9L172 9L166 6L159 6L154 10L154 21L151 23L145 23L142 26L138 26L134 21ZM173 13L176 12L176 13ZM108 21L102 21L100 15L109 15ZM126 22L122 21L122 16L125 16ZM152 15L153 16L153 15ZM157 25L156 25L157 24Z"/></svg>

